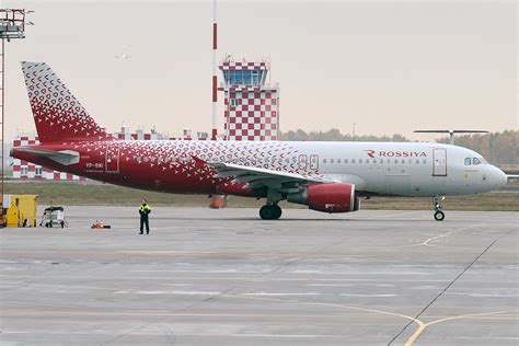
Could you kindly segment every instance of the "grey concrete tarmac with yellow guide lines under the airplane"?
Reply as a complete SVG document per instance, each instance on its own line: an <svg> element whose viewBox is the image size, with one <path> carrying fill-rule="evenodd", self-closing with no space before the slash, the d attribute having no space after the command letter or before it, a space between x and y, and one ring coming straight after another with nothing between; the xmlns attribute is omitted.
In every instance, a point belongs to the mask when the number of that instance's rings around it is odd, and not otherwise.
<svg viewBox="0 0 519 346"><path fill-rule="evenodd" d="M0 344L519 343L519 212L151 207L0 230Z"/></svg>

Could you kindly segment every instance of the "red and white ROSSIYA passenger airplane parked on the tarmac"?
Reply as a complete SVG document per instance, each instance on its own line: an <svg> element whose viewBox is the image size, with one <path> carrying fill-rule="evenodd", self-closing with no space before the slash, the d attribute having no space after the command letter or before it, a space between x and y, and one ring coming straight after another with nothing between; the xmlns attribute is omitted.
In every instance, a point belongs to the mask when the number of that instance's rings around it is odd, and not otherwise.
<svg viewBox="0 0 519 346"><path fill-rule="evenodd" d="M175 194L266 198L323 212L359 210L372 196L432 197L494 191L507 175L475 151L423 142L120 140L105 131L45 62L22 62L39 145L11 155L109 184Z"/></svg>

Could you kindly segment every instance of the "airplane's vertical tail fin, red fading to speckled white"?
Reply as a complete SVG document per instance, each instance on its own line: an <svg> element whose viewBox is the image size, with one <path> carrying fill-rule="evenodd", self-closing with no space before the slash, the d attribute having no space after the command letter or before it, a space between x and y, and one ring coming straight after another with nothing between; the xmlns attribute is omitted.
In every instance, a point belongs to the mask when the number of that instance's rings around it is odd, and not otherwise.
<svg viewBox="0 0 519 346"><path fill-rule="evenodd" d="M111 138L45 62L22 61L41 142Z"/></svg>

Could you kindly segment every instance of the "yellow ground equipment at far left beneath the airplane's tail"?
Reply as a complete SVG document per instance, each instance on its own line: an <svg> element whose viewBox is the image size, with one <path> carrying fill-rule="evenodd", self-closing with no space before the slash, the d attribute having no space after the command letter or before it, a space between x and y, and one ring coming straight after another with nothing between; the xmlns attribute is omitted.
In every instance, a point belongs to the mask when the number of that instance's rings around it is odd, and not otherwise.
<svg viewBox="0 0 519 346"><path fill-rule="evenodd" d="M8 227L36 227L37 195L4 195Z"/></svg>

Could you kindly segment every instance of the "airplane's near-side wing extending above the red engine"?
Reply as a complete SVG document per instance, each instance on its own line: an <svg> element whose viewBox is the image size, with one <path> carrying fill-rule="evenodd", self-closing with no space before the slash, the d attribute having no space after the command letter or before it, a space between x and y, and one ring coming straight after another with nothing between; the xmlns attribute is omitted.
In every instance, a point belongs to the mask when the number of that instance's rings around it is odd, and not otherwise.
<svg viewBox="0 0 519 346"><path fill-rule="evenodd" d="M267 169L252 168L234 163L206 162L207 165L217 171L215 177L234 177L233 183L247 183L251 188L260 188L263 186L274 187L281 186L287 183L293 185L303 185L308 183L331 184L341 183L341 181L325 178L321 176L302 175L298 173L288 173L282 171L274 171Z"/></svg>

